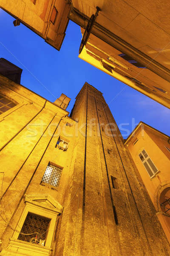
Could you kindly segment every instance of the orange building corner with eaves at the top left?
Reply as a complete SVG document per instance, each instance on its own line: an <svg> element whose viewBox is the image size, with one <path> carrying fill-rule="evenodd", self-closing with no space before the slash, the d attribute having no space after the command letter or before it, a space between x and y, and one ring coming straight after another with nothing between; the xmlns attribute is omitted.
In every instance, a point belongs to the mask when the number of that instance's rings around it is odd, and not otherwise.
<svg viewBox="0 0 170 256"><path fill-rule="evenodd" d="M59 50L68 25L69 0L0 0L0 8Z"/></svg>

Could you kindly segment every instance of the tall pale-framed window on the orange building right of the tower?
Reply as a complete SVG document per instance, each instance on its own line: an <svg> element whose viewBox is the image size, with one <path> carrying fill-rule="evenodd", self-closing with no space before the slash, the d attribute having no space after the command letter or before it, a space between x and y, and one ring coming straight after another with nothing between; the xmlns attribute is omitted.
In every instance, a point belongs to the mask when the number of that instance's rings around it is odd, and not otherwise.
<svg viewBox="0 0 170 256"><path fill-rule="evenodd" d="M154 163L152 162L152 160L150 159L146 151L142 150L142 152L139 154L139 157L145 169L147 170L148 175L150 177L155 176L155 174L158 172L158 169L156 168L156 166L154 165Z"/></svg>

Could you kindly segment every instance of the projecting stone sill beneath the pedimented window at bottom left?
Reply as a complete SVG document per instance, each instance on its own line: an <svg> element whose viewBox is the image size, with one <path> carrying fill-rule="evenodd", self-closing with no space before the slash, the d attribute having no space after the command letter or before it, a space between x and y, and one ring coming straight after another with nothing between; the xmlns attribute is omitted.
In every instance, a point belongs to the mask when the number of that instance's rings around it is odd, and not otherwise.
<svg viewBox="0 0 170 256"><path fill-rule="evenodd" d="M10 238L10 243L6 249L3 249L0 256L49 256L51 248Z"/></svg>

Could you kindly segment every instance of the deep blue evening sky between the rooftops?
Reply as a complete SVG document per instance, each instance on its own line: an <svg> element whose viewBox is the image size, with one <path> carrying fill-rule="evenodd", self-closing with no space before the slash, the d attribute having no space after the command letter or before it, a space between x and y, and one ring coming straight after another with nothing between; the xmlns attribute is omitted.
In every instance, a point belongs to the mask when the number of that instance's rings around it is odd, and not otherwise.
<svg viewBox="0 0 170 256"><path fill-rule="evenodd" d="M143 121L170 135L170 110L78 58L80 27L69 21L60 51L0 9L0 57L23 69L21 84L54 102L61 93L71 98L68 111L87 81L103 93L119 126L131 132ZM133 125L135 122L135 126ZM127 125L128 123L128 125ZM124 138L125 131L121 131Z"/></svg>

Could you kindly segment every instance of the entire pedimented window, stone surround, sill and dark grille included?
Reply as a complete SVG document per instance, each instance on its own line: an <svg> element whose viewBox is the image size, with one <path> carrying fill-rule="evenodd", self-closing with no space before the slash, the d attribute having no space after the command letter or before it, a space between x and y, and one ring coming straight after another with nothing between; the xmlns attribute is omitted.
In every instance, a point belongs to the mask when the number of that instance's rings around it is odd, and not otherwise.
<svg viewBox="0 0 170 256"><path fill-rule="evenodd" d="M57 216L62 213L63 207L48 194L25 195L24 203L26 206L23 209L14 234L10 238L10 243L1 253L2 255L15 256L20 256L21 254L27 256L49 256L52 250L51 243L54 237ZM35 221L37 221L35 218L38 218L39 222L44 221L42 228L40 223L35 224ZM26 236L30 231L35 234L28 235L27 239ZM45 232L45 235L43 232ZM24 233L24 235L21 233ZM37 233L41 233L42 239L38 237Z"/></svg>

